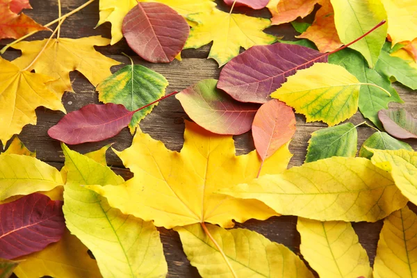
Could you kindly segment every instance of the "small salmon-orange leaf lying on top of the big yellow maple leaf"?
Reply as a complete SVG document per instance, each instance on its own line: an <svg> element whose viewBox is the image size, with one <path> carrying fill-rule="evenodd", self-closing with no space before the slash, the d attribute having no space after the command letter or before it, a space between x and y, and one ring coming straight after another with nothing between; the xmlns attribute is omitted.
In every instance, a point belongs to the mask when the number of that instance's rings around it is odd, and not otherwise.
<svg viewBox="0 0 417 278"><path fill-rule="evenodd" d="M252 124L252 135L262 161L291 140L294 133L293 108L277 99L272 99L259 108Z"/></svg>

